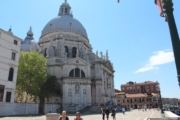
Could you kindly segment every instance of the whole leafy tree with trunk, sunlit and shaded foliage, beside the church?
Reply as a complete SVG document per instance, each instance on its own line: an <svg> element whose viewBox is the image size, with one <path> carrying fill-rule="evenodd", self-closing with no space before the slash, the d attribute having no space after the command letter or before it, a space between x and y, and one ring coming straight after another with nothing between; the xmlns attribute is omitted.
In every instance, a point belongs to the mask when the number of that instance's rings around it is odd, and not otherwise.
<svg viewBox="0 0 180 120"><path fill-rule="evenodd" d="M39 98L39 114L44 114L45 98L60 92L56 76L47 75L46 58L37 52L21 52L16 90L18 94ZM27 100L27 99L26 99Z"/></svg>

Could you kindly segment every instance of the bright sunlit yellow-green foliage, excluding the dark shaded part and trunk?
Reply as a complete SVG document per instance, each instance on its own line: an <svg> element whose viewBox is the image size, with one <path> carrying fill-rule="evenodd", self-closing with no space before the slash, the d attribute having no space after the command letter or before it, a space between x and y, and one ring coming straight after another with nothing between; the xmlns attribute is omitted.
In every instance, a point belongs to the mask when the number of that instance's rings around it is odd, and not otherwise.
<svg viewBox="0 0 180 120"><path fill-rule="evenodd" d="M37 52L21 52L18 66L17 91L38 96L45 83L46 58Z"/></svg>

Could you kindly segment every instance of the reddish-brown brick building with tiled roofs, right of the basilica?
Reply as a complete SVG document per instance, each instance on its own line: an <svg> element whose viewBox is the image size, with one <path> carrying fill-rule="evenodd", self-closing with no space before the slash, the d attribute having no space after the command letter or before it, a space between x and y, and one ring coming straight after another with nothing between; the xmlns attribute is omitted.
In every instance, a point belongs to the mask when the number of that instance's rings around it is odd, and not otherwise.
<svg viewBox="0 0 180 120"><path fill-rule="evenodd" d="M159 83L145 81L143 83L128 82L121 85L121 91L115 91L116 103L130 108L138 106L159 106Z"/></svg>

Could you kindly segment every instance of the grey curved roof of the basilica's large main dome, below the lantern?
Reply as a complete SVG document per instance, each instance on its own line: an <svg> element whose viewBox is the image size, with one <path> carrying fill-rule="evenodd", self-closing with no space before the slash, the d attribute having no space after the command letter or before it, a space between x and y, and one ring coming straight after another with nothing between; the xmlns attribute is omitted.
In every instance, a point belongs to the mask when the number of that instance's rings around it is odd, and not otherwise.
<svg viewBox="0 0 180 120"><path fill-rule="evenodd" d="M49 21L42 30L41 36L55 31L72 31L87 37L86 29L83 25L70 15L58 16Z"/></svg>

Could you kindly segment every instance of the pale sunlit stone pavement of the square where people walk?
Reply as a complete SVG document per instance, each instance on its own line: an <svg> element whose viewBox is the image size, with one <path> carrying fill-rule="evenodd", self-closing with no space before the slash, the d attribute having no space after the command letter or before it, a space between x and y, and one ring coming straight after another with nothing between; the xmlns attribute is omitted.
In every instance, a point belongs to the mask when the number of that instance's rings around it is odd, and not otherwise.
<svg viewBox="0 0 180 120"><path fill-rule="evenodd" d="M69 115L69 120L74 120L74 116ZM82 115L83 120L102 120L101 114L94 115ZM157 110L147 110L143 112L142 110L132 110L126 112L125 115L122 113L116 114L116 120L146 120L147 118L161 118L161 112ZM22 117L2 117L0 120L46 120L44 116L22 116ZM110 116L109 120L113 120Z"/></svg>

